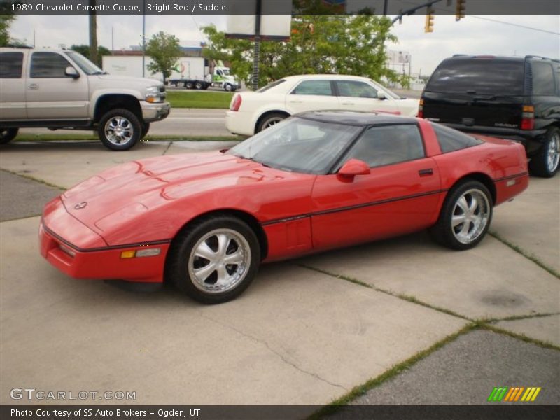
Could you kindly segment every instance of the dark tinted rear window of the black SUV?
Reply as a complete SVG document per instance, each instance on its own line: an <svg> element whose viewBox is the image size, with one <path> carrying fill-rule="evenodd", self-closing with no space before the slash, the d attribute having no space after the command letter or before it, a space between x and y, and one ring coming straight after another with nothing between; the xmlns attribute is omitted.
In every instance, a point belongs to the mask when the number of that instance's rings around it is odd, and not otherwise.
<svg viewBox="0 0 560 420"><path fill-rule="evenodd" d="M524 62L503 59L444 60L426 91L447 93L522 95Z"/></svg>

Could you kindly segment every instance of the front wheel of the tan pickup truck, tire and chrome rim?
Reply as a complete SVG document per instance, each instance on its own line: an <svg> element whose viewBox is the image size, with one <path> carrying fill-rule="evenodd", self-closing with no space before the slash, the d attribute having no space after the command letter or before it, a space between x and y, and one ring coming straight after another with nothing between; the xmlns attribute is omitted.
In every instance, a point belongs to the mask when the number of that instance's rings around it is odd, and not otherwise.
<svg viewBox="0 0 560 420"><path fill-rule="evenodd" d="M99 121L99 139L112 151L127 151L140 139L142 125L127 109L113 109Z"/></svg>

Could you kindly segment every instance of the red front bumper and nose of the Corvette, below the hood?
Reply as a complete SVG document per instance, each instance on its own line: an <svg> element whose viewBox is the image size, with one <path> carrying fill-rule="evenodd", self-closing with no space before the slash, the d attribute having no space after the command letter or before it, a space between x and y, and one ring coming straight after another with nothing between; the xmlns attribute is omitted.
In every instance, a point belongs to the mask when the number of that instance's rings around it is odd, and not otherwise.
<svg viewBox="0 0 560 420"><path fill-rule="evenodd" d="M51 265L75 279L120 279L149 283L163 281L169 243L107 246L97 233L68 214L59 199L52 200L45 206L38 237L41 255ZM160 248L160 254L121 258L123 251L150 248Z"/></svg>

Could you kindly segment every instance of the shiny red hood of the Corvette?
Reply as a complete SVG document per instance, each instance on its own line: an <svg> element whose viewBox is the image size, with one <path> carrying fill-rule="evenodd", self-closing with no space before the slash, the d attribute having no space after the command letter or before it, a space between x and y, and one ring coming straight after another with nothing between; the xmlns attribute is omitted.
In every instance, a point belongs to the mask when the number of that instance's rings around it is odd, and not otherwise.
<svg viewBox="0 0 560 420"><path fill-rule="evenodd" d="M263 167L260 163L220 152L160 156L106 170L62 195L72 216L100 235L147 211L202 194L247 184L274 182L307 175ZM248 198L251 200L251 197Z"/></svg>

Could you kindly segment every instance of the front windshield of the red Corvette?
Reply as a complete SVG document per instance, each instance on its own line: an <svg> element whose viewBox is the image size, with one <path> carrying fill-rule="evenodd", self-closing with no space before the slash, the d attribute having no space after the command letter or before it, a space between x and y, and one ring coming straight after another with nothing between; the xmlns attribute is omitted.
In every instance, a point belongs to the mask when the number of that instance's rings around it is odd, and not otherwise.
<svg viewBox="0 0 560 420"><path fill-rule="evenodd" d="M305 174L326 174L362 127L288 118L243 141L230 155Z"/></svg>

